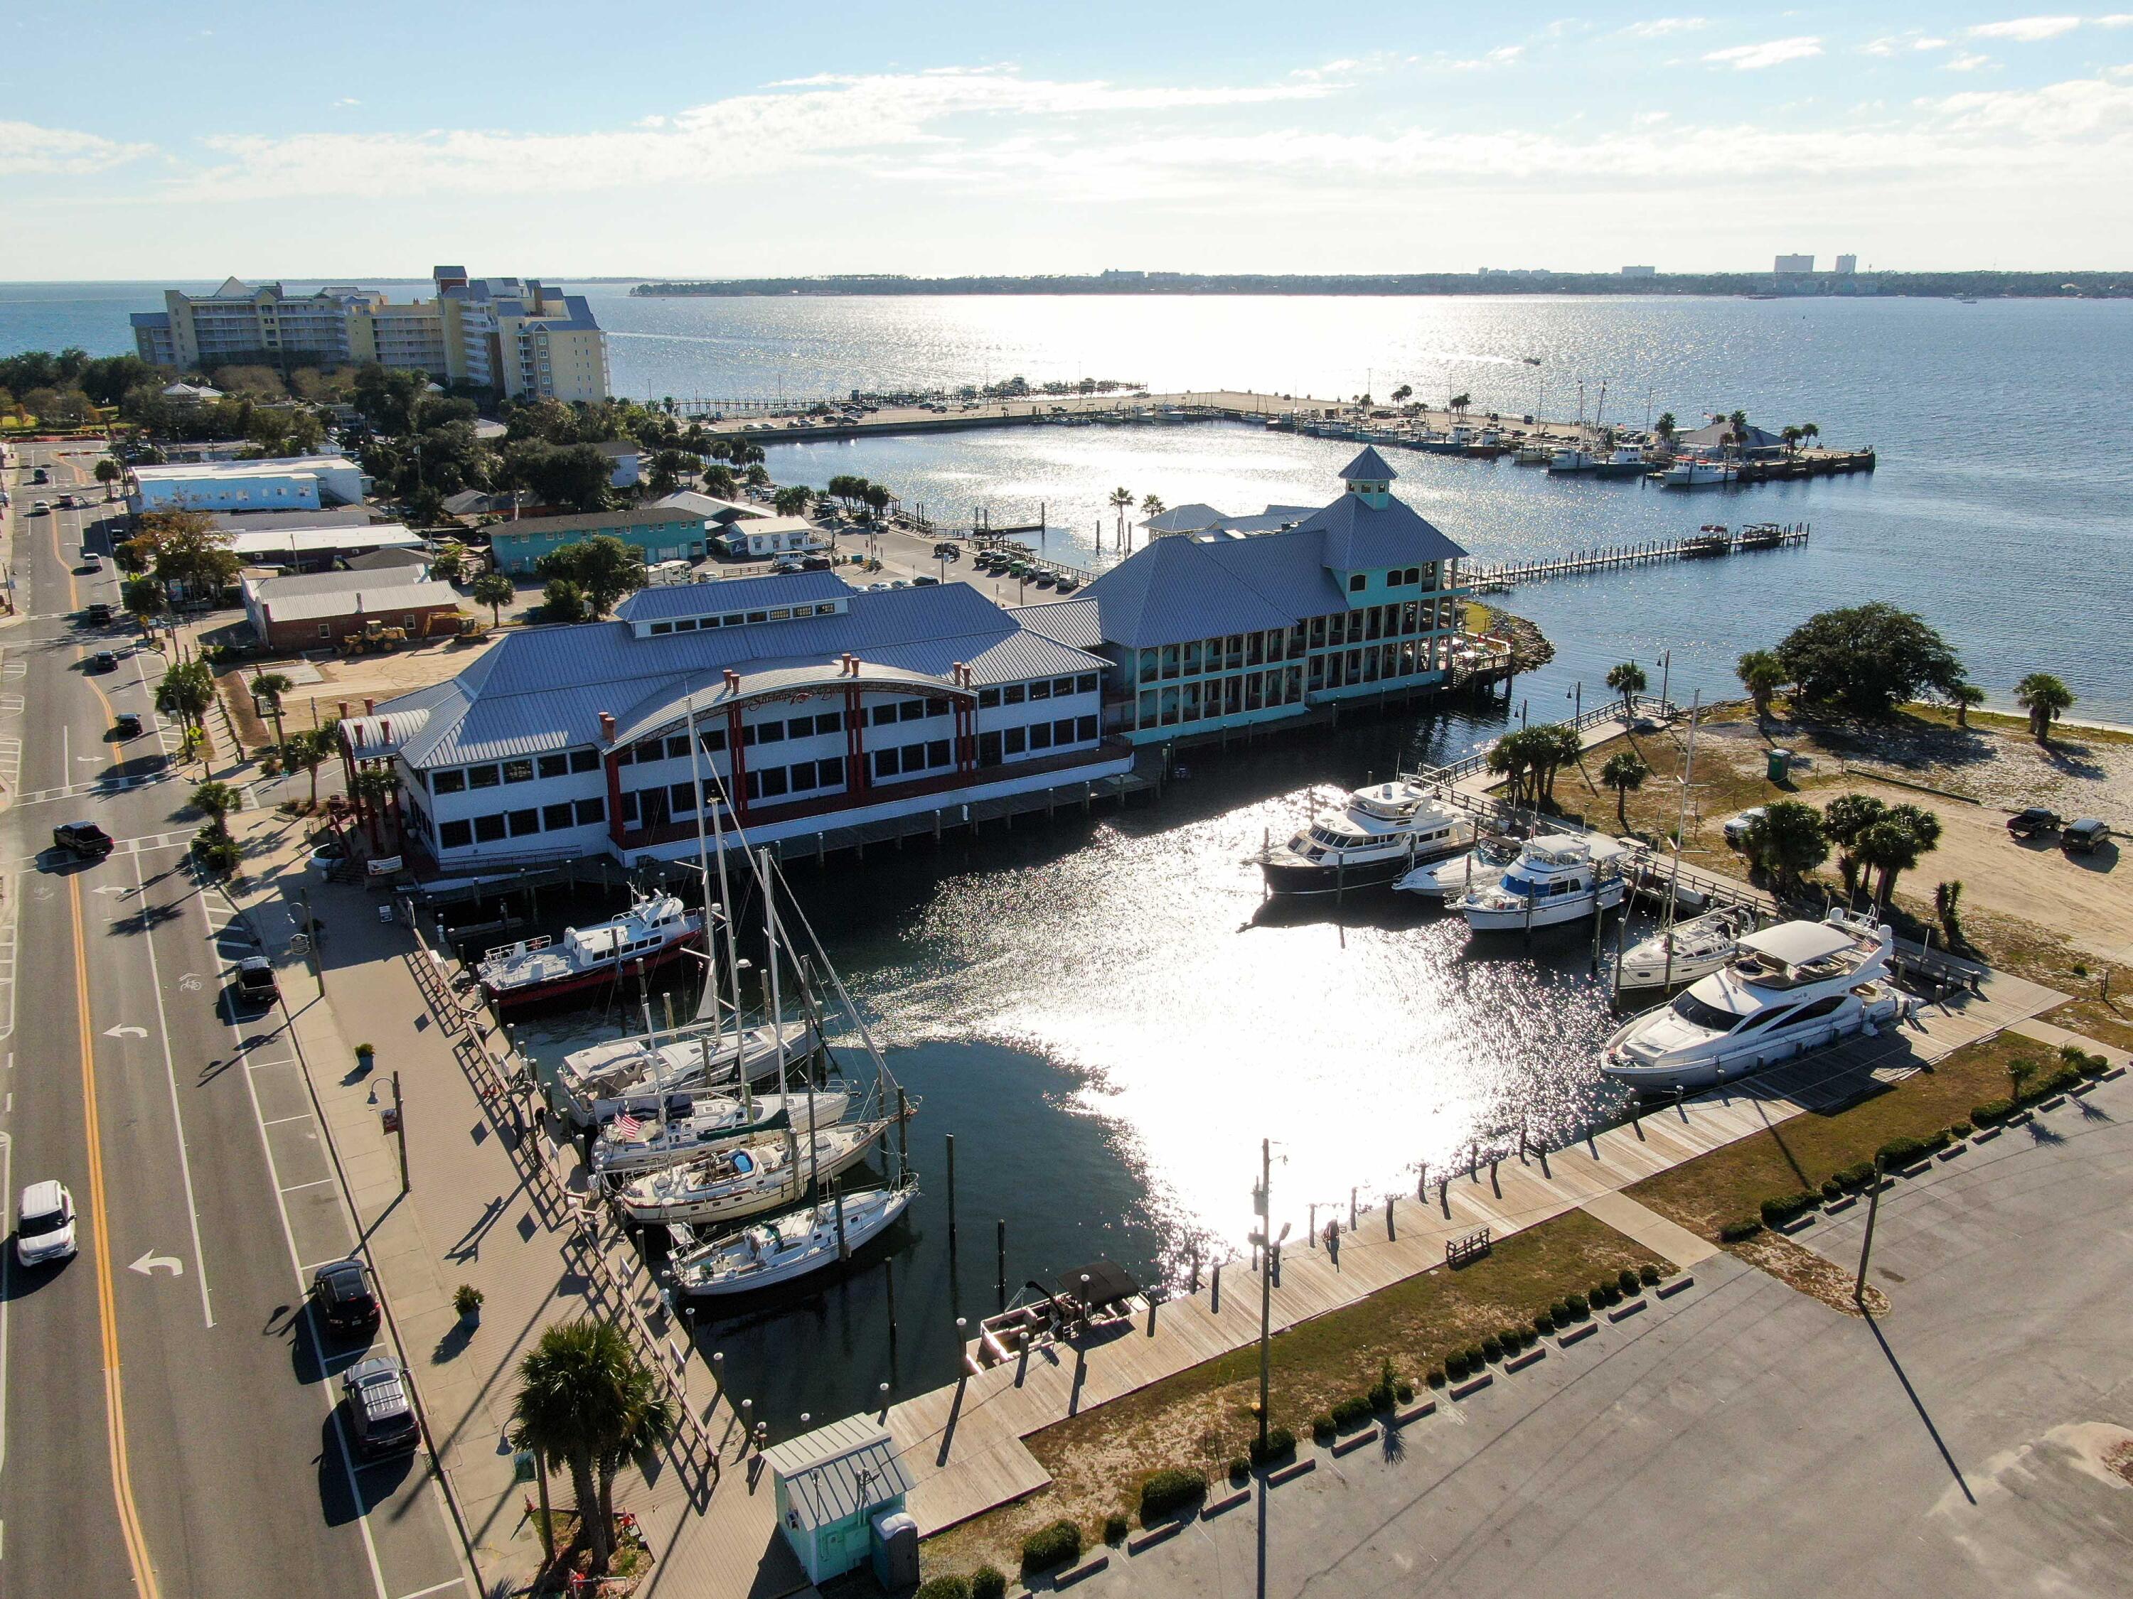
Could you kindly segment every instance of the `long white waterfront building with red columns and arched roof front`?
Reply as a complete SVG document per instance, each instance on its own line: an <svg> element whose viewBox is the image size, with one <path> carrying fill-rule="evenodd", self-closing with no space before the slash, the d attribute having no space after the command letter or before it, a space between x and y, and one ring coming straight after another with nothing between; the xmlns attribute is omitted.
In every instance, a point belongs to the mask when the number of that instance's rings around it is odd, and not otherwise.
<svg viewBox="0 0 2133 1599"><path fill-rule="evenodd" d="M764 844L1079 797L1133 768L1103 736L1103 667L971 584L727 578L512 629L450 682L343 721L341 746L350 772L392 765L407 831L446 872L687 859L706 804Z"/></svg>

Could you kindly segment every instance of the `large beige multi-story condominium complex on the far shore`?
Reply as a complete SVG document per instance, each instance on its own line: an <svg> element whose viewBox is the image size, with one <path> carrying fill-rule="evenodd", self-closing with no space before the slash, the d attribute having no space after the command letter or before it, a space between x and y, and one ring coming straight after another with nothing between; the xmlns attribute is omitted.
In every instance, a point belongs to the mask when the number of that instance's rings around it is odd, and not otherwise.
<svg viewBox="0 0 2133 1599"><path fill-rule="evenodd" d="M608 397L608 341L582 294L538 279L467 277L437 266L435 296L392 301L382 290L230 277L211 294L164 290L162 311L132 318L134 348L158 367L346 367L427 371L503 399Z"/></svg>

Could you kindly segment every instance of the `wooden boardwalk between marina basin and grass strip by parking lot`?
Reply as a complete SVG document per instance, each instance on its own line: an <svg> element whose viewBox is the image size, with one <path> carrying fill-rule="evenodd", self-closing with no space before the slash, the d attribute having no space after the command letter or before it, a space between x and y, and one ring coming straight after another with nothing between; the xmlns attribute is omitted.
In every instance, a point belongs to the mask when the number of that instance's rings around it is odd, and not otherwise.
<svg viewBox="0 0 2133 1599"><path fill-rule="evenodd" d="M1506 1156L1476 1170L1427 1175L1427 1198L1384 1196L1340 1241L1337 1256L1293 1243L1273 1288L1273 1326L1354 1305L1393 1281L1444 1262L1453 1237L1487 1226L1497 1239L1617 1194L1668 1166L1762 1132L1805 1111L1854 1098L1869 1081L1894 1081L1960 1045L2022 1021L2063 996L1992 974L1982 994L1924 1008L1905 1028L1856 1040L1751 1083L1715 1089L1636 1124L1595 1132L1566 1149ZM1386 1239L1386 1205L1395 1237ZM1621 1215L1619 1207L1615 1209ZM1216 1283L1160 1305L1137 1326L1092 1343L1054 1345L1015 1364L919 1394L887 1411L887 1426L915 1482L909 1509L921 1535L953 1527L1049 1482L1024 1439L1092 1405L1239 1350L1258 1337L1258 1277L1229 1262Z"/></svg>

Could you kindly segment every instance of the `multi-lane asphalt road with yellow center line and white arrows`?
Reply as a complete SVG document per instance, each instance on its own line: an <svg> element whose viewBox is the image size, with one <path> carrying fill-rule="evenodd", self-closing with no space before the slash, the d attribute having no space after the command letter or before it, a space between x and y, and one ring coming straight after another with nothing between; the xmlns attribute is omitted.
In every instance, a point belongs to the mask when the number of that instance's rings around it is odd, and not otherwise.
<svg viewBox="0 0 2133 1599"><path fill-rule="evenodd" d="M356 1226L284 1013L230 1008L252 947L186 868L196 768L166 776L164 661L79 616L119 591L94 456L15 454L53 484L6 473L26 618L0 629L0 1593L459 1593L427 1458L346 1448L335 1377L363 1352L318 1337L303 1283ZM58 510L70 488L83 510ZM122 710L145 725L124 744ZM62 859L51 827L77 819L117 851ZM26 1271L15 1202L43 1177L73 1190L81 1254Z"/></svg>

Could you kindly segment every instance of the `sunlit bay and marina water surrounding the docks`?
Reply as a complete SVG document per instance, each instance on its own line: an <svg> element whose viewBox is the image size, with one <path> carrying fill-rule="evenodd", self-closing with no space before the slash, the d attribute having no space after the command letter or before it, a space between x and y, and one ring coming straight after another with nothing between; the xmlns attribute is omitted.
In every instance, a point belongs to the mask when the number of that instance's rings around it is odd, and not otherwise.
<svg viewBox="0 0 2133 1599"><path fill-rule="evenodd" d="M1871 478L1668 495L1549 482L1504 463L1395 454L1399 492L1480 559L1672 537L1706 520L1811 522L1805 550L1536 584L1510 597L1557 646L1519 680L1534 718L1566 714L1621 659L1672 652L1670 691L1736 693L1734 657L1832 603L1920 610L1996 704L2031 669L2065 676L2075 714L2133 721L2133 456L2112 407L2133 367L2127 303L1555 301L1555 298L883 298L636 301L580 286L612 335L619 392L836 394L849 388L1120 377L1152 388L1384 397L1397 384L1480 409L1683 424L1745 407L1873 443ZM0 352L126 350L154 286L0 286ZM1540 356L1542 365L1525 365ZM1352 448L1248 426L1007 429L776 446L772 473L853 471L934 516L1054 524L1047 548L1098 563L1103 501L1231 512L1320 503ZM1011 595L1005 595L1011 599ZM1653 669L1653 687L1659 676ZM1175 1273L1192 1245L1235 1249L1258 1138L1280 1134L1276 1211L1412 1192L1521 1115L1568 1132L1604 1107L1606 1030L1576 930L1470 942L1463 923L1389 898L1267 912L1248 863L1308 789L1463 753L1506 710L1433 712L1188 753L1160 806L1060 819L941 851L834 861L793 881L889 1064L926 1100L913 1124L924 1198L887 1273L751 1307L704 1330L736 1392L776 1424L953 1375L958 1313L992 1309L996 1217L1009 1286L1096 1256ZM1517 706L1510 708L1517 714ZM593 1036L559 1019L540 1047ZM949 1249L941 1136L958 1138ZM1320 1211L1320 1217L1325 1211Z"/></svg>

